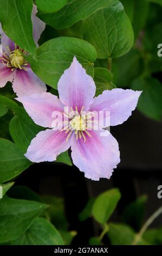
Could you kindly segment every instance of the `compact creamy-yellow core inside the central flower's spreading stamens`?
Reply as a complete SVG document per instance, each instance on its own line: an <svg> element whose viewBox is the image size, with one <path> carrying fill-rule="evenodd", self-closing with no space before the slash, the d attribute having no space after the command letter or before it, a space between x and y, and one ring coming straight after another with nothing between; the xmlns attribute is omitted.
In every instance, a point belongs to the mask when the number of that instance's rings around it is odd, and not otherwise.
<svg viewBox="0 0 162 256"><path fill-rule="evenodd" d="M86 115L76 115L70 122L71 130L85 131L86 130Z"/></svg>

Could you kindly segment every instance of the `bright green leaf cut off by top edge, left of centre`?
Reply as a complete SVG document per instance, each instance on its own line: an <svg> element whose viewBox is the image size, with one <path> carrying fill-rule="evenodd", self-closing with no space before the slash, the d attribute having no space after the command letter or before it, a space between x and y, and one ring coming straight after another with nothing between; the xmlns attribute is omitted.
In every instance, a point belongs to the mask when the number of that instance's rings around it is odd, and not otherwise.
<svg viewBox="0 0 162 256"><path fill-rule="evenodd" d="M59 11L68 0L36 0L36 5L43 13L56 13Z"/></svg>

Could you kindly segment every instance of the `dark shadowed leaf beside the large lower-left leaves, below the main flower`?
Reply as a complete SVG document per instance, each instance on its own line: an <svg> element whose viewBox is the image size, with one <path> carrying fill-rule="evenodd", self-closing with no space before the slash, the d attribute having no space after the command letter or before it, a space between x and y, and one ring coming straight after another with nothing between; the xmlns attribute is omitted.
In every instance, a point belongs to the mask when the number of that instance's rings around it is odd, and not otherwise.
<svg viewBox="0 0 162 256"><path fill-rule="evenodd" d="M65 215L64 199L51 195L43 195L43 202L49 205L46 210L48 219L55 225L57 229L67 230L68 222Z"/></svg>

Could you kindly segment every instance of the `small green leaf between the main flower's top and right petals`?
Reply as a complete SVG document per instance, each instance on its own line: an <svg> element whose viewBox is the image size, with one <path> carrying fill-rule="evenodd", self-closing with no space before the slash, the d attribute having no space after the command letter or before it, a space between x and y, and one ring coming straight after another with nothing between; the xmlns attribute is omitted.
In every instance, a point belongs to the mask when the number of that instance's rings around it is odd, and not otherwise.
<svg viewBox="0 0 162 256"><path fill-rule="evenodd" d="M113 84L113 75L108 69L94 68L94 82L96 85L95 96L102 94L104 90L116 88Z"/></svg>

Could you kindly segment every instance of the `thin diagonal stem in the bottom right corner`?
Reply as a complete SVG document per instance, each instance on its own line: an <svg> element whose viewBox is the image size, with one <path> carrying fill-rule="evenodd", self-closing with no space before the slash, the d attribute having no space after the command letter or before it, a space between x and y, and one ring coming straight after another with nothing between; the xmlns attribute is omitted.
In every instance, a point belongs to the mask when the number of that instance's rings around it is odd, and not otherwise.
<svg viewBox="0 0 162 256"><path fill-rule="evenodd" d="M145 224L141 227L139 233L135 236L134 241L132 242L132 245L137 245L137 243L140 241L141 237L144 235L146 229L151 225L151 223L157 218L160 214L162 214L162 206L154 212L153 215L151 215L150 218L145 222Z"/></svg>

